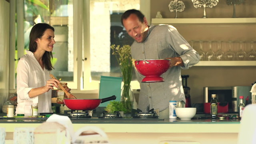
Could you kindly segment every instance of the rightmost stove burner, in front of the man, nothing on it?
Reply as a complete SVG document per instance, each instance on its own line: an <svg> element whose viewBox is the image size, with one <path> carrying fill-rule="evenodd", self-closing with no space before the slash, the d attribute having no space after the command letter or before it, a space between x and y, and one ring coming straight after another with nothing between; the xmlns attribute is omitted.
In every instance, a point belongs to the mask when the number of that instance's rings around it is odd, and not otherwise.
<svg viewBox="0 0 256 144"><path fill-rule="evenodd" d="M146 118L158 118L158 116L159 116L159 109L154 110L154 108L152 108L148 112L142 112L142 110L138 108L137 110L132 109L132 118L146 119Z"/></svg>

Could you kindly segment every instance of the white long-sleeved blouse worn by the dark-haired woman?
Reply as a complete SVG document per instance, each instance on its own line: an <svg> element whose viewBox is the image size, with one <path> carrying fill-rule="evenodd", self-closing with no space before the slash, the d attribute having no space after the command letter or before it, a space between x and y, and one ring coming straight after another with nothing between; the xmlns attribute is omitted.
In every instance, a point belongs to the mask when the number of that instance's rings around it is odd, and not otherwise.
<svg viewBox="0 0 256 144"><path fill-rule="evenodd" d="M42 69L34 54L26 50L17 66L17 95L18 104L16 114L31 115L31 104L38 103L38 113L52 112L52 90L45 92L34 98L28 96L28 92L32 88L38 88L46 85L46 81L50 79L50 71Z"/></svg>

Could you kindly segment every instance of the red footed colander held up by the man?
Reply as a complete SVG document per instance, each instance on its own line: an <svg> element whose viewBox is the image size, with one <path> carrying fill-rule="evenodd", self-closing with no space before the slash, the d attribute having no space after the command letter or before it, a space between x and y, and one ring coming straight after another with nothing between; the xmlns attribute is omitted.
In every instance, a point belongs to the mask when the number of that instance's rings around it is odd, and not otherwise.
<svg viewBox="0 0 256 144"><path fill-rule="evenodd" d="M145 76L141 82L164 82L161 75L166 72L170 66L169 59L148 59L135 60L136 70Z"/></svg>

